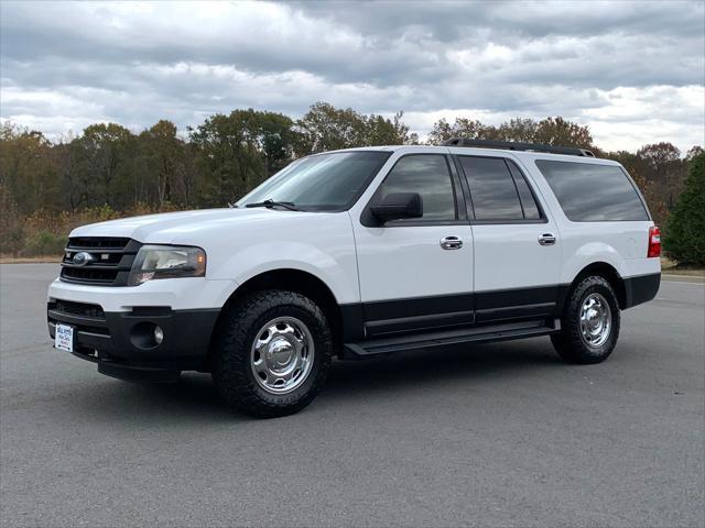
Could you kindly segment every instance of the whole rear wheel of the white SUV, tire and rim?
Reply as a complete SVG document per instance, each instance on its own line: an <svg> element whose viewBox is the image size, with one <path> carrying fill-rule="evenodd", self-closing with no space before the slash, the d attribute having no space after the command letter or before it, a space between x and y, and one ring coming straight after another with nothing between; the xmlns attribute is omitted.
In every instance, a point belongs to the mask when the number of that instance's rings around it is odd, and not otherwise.
<svg viewBox="0 0 705 528"><path fill-rule="evenodd" d="M562 330L551 336L553 346L570 363L605 361L619 337L619 302L610 284L594 275L571 292L561 319Z"/></svg>

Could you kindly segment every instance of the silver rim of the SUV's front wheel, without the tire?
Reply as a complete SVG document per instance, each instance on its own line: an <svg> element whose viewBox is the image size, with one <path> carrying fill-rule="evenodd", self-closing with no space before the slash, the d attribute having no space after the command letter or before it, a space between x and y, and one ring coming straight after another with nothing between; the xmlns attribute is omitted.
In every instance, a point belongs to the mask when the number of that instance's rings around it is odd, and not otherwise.
<svg viewBox="0 0 705 528"><path fill-rule="evenodd" d="M278 317L257 333L250 350L254 381L271 394L286 394L308 377L314 359L308 327L294 317Z"/></svg>

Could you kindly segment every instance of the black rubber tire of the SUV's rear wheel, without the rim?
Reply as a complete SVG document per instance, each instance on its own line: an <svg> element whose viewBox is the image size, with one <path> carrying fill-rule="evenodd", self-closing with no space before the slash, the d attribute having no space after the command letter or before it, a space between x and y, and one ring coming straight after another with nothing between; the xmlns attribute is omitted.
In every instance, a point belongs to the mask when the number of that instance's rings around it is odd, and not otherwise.
<svg viewBox="0 0 705 528"><path fill-rule="evenodd" d="M581 328L581 310L588 297L594 294L601 296L609 306L609 334L604 343L596 340L589 345ZM594 298L594 297L593 297ZM551 336L553 348L558 355L568 363L594 364L605 361L611 354L619 338L619 302L609 282L598 275L583 278L568 294L563 317L562 330Z"/></svg>

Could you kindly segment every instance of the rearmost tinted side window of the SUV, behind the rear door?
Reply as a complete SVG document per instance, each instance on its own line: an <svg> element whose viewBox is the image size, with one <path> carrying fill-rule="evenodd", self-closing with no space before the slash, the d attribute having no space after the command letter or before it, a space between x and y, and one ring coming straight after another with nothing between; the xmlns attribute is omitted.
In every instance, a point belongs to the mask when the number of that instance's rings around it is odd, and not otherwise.
<svg viewBox="0 0 705 528"><path fill-rule="evenodd" d="M625 172L615 165L536 160L565 216L574 222L649 220Z"/></svg>

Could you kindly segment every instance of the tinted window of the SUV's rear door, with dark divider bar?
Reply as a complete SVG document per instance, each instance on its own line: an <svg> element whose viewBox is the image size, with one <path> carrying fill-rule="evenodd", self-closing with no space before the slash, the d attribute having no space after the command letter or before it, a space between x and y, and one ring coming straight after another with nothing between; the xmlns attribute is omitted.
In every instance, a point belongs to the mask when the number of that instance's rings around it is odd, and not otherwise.
<svg viewBox="0 0 705 528"><path fill-rule="evenodd" d="M523 175L501 157L458 156L470 186L475 219L539 220L541 212Z"/></svg>

